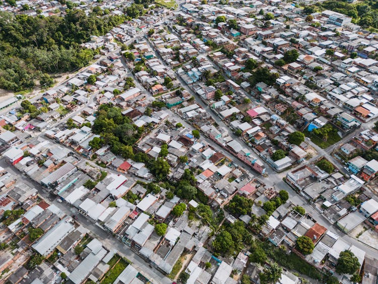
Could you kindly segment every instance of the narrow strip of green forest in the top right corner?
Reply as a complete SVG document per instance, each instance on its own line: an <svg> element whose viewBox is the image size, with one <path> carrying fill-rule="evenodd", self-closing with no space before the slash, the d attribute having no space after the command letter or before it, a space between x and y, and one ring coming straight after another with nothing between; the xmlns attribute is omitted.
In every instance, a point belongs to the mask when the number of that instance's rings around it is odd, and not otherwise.
<svg viewBox="0 0 378 284"><path fill-rule="evenodd" d="M317 3L315 6L304 8L305 14L314 12L332 10L352 17L352 22L364 28L378 28L378 1L364 0L354 4L347 3L346 0L329 0Z"/></svg>

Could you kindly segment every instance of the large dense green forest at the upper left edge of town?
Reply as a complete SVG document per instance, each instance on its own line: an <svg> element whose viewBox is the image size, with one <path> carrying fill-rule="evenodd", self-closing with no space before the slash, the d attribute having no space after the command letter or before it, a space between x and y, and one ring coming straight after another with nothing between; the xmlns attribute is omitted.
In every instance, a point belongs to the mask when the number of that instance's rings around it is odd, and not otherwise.
<svg viewBox="0 0 378 284"><path fill-rule="evenodd" d="M23 91L53 83L50 74L87 65L95 53L80 44L121 24L124 16L87 16L66 10L65 17L0 13L0 88Z"/></svg>

